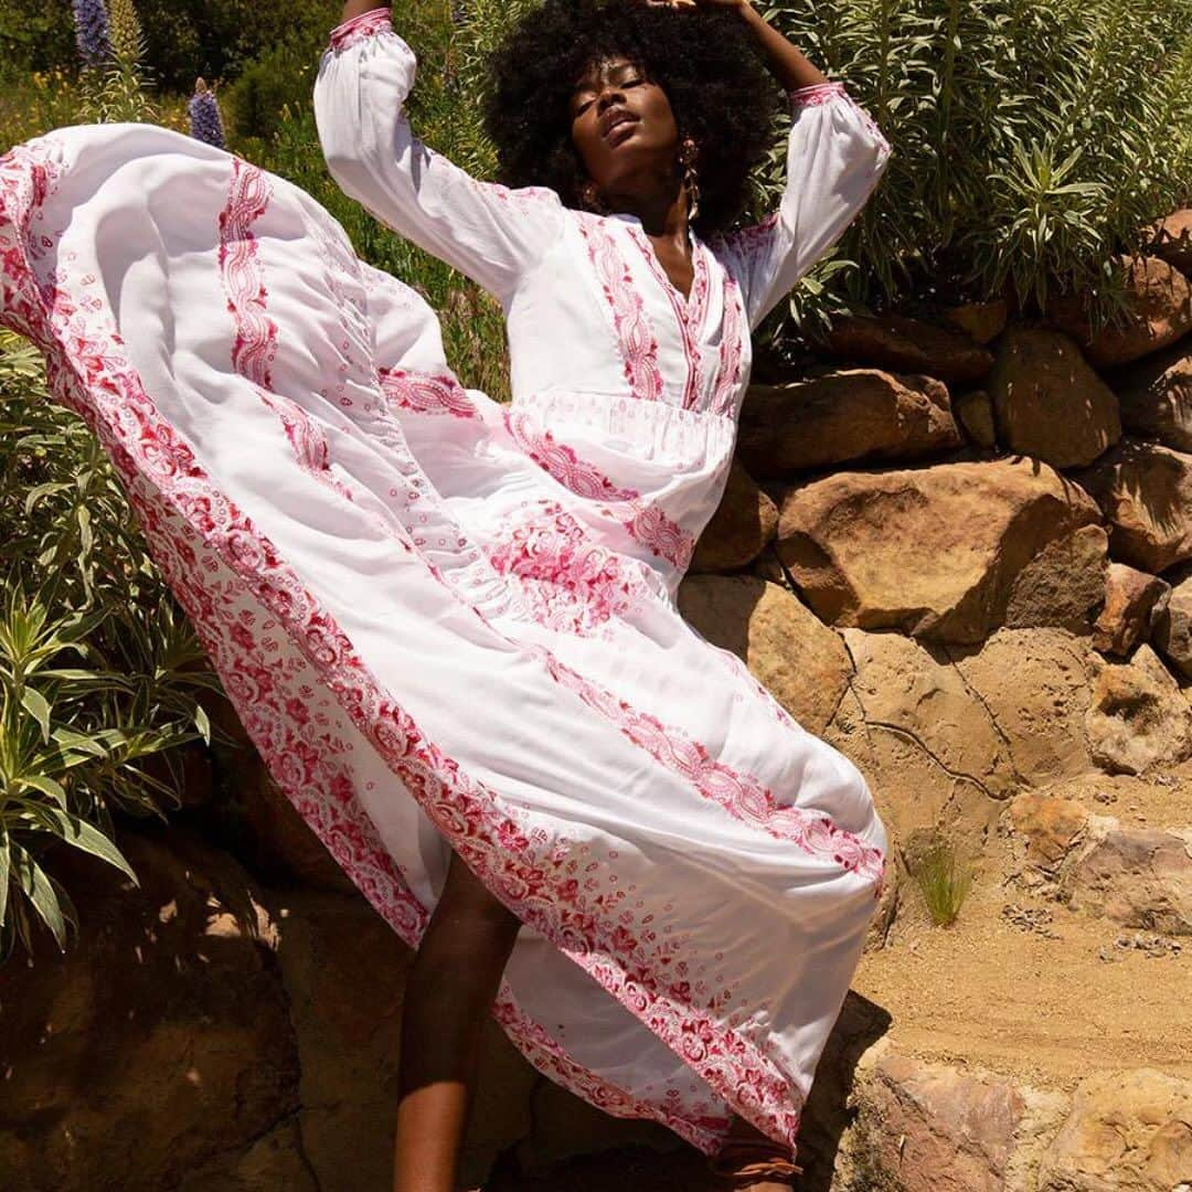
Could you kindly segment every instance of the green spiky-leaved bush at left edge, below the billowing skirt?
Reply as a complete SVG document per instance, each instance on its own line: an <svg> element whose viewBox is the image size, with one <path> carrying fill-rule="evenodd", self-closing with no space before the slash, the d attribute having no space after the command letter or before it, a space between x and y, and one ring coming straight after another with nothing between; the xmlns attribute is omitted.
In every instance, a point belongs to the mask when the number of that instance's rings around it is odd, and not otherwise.
<svg viewBox="0 0 1192 1192"><path fill-rule="evenodd" d="M41 356L0 333L0 957L35 919L77 923L42 865L57 843L128 871L112 813L161 815L170 751L206 737L218 690L107 455L44 393Z"/></svg>

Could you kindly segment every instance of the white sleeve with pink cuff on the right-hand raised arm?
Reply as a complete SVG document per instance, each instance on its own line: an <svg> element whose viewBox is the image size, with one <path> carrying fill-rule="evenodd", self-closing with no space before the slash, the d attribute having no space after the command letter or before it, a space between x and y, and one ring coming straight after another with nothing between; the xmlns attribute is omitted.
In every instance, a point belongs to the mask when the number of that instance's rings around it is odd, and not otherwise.
<svg viewBox="0 0 1192 1192"><path fill-rule="evenodd" d="M789 98L793 119L778 209L715 242L741 286L750 330L844 235L890 155L889 142L843 83L800 87Z"/></svg>

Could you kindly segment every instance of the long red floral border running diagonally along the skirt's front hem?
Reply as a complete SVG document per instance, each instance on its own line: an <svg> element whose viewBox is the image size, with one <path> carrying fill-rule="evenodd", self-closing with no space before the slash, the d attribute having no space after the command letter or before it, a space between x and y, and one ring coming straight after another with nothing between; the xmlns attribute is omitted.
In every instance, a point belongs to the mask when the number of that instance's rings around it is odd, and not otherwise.
<svg viewBox="0 0 1192 1192"><path fill-rule="evenodd" d="M45 151L44 145L39 148ZM19 234L29 226L36 190L25 168L29 154L18 147L0 156L0 211L13 211L13 228ZM801 1105L797 1086L740 1030L726 1028L696 1008L691 983L682 977L679 966L663 958L658 945L647 946L650 942L642 936L633 938L632 951L627 951L629 939L608 923L598 905L588 906L572 884L552 884L550 871L534 864L535 859L541 862L541 855L528 851L532 830L527 834L510 818L511 807L466 776L386 697L348 638L274 545L215 488L159 414L114 330L88 322L63 287L54 290L52 305L48 302L30 267L32 254L25 235L19 235L15 244L0 237L0 252L6 324L33 334L46 352L48 379L55 393L88 421L125 480L132 484L137 473L143 474L167 507L191 524L253 598L277 617L436 827L467 852L482 880L523 921L646 1023L738 1112L794 1144ZM657 1107L651 1106L651 1111L658 1116ZM696 1134L695 1128L690 1134L710 1144L709 1153L714 1149L712 1136Z"/></svg>

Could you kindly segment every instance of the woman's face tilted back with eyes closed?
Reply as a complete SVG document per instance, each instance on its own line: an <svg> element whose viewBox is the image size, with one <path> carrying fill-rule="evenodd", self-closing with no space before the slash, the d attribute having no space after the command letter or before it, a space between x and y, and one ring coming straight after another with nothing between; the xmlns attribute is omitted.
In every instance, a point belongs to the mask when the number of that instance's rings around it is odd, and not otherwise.
<svg viewBox="0 0 1192 1192"><path fill-rule="evenodd" d="M678 126L666 92L629 58L591 63L571 95L571 139L600 191L633 190L633 176L673 169Z"/></svg>

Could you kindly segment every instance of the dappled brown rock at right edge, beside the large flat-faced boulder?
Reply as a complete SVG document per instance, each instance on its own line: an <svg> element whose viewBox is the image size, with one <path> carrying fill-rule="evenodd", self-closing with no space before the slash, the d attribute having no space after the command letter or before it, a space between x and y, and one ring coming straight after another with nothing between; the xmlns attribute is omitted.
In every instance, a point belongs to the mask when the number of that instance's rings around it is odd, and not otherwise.
<svg viewBox="0 0 1192 1192"><path fill-rule="evenodd" d="M1192 455L1125 439L1074 478L1109 520L1115 559L1159 575L1192 558Z"/></svg>

